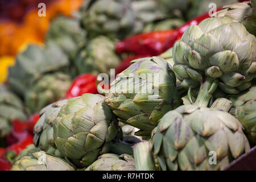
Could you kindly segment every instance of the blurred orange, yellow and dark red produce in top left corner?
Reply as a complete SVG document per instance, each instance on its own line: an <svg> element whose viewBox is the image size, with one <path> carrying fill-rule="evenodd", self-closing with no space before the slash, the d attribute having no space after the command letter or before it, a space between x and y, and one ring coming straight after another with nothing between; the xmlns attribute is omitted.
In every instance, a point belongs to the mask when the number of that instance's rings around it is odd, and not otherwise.
<svg viewBox="0 0 256 182"><path fill-rule="evenodd" d="M13 64L15 55L30 43L43 44L53 18L73 16L82 0L11 0L0 2L0 68L1 82L6 79L6 68ZM38 16L38 4L46 3L47 16Z"/></svg>

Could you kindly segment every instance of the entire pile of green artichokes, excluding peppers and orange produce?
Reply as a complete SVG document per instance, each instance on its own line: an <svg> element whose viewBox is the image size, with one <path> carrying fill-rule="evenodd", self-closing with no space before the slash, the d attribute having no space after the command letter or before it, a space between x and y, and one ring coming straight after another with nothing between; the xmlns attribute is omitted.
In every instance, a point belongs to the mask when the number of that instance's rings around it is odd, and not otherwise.
<svg viewBox="0 0 256 182"><path fill-rule="evenodd" d="M110 75L120 60L117 39L164 29L165 22L167 28L179 27L184 11L199 2L174 5L85 1L82 28L71 19L56 20L46 48L30 46L16 57L9 88L30 113L40 110L40 119L34 145L16 157L11 170L223 170L255 146L255 1L224 6L216 17L188 27L163 55L131 61L104 94L58 100L72 74ZM64 47L65 41L71 47ZM0 106L14 109L0 114L1 139L11 118L26 115L22 101L0 89Z"/></svg>

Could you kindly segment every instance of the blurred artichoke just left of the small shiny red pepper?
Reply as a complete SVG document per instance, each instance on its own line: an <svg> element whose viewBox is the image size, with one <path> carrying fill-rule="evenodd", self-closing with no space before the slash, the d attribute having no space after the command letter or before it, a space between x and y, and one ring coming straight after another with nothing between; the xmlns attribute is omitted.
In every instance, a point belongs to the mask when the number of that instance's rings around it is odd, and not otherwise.
<svg viewBox="0 0 256 182"><path fill-rule="evenodd" d="M31 89L26 93L25 104L30 113L40 111L44 106L65 97L71 77L61 72L44 75L35 81Z"/></svg>

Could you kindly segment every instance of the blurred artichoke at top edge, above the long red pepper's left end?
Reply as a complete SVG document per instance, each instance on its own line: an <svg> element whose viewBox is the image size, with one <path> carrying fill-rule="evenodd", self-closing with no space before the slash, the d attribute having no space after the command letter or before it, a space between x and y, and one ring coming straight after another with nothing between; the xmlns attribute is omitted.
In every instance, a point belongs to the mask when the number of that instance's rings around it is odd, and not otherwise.
<svg viewBox="0 0 256 182"><path fill-rule="evenodd" d="M89 38L106 35L125 38L133 30L135 15L130 0L88 0L82 7L81 24Z"/></svg>

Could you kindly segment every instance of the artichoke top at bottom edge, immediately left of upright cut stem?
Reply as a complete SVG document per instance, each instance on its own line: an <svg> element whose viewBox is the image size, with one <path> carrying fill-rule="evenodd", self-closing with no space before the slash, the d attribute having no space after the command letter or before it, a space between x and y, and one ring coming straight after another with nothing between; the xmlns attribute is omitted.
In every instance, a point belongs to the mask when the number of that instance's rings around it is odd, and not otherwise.
<svg viewBox="0 0 256 182"><path fill-rule="evenodd" d="M135 164L128 154L103 154L85 171L135 171Z"/></svg>

